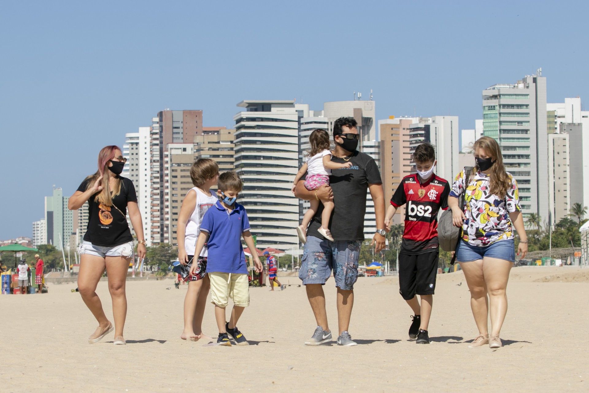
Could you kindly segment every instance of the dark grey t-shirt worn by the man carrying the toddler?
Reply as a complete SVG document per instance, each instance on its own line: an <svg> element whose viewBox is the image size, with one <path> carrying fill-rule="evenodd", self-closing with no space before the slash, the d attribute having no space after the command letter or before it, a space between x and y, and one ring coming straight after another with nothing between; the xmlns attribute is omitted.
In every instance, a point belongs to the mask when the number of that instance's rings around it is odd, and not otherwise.
<svg viewBox="0 0 589 393"><path fill-rule="evenodd" d="M369 184L380 184L380 173L374 158L356 150L349 160L332 156L335 163L351 162L350 169L332 169L329 185L333 190L333 208L329 230L334 240L364 240L364 216L366 215L366 190ZM307 236L323 236L317 232L321 227L323 203L307 229Z"/></svg>

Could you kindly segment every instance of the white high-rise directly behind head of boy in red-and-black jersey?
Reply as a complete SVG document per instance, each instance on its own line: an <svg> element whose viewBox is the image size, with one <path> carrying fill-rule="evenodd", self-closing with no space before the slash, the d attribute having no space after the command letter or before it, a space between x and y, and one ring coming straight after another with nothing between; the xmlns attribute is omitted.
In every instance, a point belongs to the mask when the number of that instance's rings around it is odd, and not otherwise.
<svg viewBox="0 0 589 393"><path fill-rule="evenodd" d="M409 153L415 153L415 148L422 143L434 145L436 165L435 173L443 179L452 182L456 174L462 170L459 153L458 116L419 117L409 129ZM412 173L415 173L415 162L411 158Z"/></svg>

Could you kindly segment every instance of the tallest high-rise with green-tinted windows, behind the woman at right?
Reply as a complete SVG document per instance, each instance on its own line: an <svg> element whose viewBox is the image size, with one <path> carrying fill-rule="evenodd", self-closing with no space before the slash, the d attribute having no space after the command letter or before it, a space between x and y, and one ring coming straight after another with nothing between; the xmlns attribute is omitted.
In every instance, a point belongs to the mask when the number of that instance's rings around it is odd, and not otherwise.
<svg viewBox="0 0 589 393"><path fill-rule="evenodd" d="M548 219L546 78L528 75L515 84L482 91L484 135L501 146L503 161L519 186L524 214Z"/></svg>

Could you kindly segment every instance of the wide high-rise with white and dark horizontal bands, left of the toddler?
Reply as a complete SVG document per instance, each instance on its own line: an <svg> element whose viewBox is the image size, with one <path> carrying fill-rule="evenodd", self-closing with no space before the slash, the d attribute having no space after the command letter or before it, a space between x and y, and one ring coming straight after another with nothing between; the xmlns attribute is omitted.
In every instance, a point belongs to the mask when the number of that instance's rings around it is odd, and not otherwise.
<svg viewBox="0 0 589 393"><path fill-rule="evenodd" d="M292 181L299 170L299 118L309 105L294 100L244 100L234 115L235 170L243 181L239 201L247 209L260 248L298 245L299 200Z"/></svg>

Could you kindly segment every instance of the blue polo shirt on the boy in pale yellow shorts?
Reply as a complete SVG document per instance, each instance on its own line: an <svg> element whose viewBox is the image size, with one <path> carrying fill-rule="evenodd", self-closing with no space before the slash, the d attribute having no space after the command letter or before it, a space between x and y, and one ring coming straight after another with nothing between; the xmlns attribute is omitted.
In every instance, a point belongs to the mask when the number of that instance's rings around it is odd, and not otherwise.
<svg viewBox="0 0 589 393"><path fill-rule="evenodd" d="M207 273L247 274L241 234L250 230L250 222L243 206L236 203L231 213L227 213L221 202L217 201L214 207L204 214L200 230L210 234L207 242Z"/></svg>

